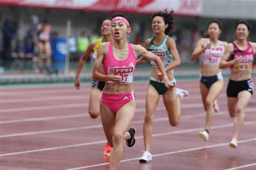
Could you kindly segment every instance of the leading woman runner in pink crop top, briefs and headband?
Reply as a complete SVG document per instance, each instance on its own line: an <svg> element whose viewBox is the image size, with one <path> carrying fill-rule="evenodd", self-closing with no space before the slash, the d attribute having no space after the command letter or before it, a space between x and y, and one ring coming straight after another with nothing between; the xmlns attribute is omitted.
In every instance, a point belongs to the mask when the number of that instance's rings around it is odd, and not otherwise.
<svg viewBox="0 0 256 170"><path fill-rule="evenodd" d="M106 85L100 96L100 116L108 143L113 147L109 169L117 169L123 155L123 140L132 147L135 143L135 128L130 128L135 112L135 97L132 79L137 56L155 61L162 73L157 78L164 80L168 90L174 85L168 80L162 60L157 55L148 52L140 45L126 43L127 33L131 32L129 21L122 13L116 13L111 20L113 42L100 44L94 63L92 78L105 81ZM99 72L103 64L104 74Z"/></svg>

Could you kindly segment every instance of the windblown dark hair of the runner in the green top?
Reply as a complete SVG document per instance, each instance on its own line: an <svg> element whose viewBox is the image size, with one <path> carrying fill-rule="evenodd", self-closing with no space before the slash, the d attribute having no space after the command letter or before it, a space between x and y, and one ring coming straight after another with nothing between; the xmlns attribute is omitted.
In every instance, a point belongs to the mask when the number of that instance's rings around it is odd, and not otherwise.
<svg viewBox="0 0 256 170"><path fill-rule="evenodd" d="M170 13L167 12L167 9L165 9L164 11L159 11L159 12L155 12L152 16L152 20L156 17L156 16L160 16L164 18L164 24L168 24L168 27L165 29L164 33L166 35L168 35L170 33L170 31L175 29L175 26L173 26L173 16L174 11L171 10Z"/></svg>

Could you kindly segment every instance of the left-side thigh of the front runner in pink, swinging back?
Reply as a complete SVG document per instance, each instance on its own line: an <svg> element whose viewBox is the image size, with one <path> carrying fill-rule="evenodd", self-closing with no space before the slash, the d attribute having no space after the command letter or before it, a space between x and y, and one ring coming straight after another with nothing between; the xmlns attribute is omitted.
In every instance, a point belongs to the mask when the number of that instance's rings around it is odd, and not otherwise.
<svg viewBox="0 0 256 170"><path fill-rule="evenodd" d="M110 145L112 145L113 131L116 125L116 114L100 101L100 117L104 133Z"/></svg>

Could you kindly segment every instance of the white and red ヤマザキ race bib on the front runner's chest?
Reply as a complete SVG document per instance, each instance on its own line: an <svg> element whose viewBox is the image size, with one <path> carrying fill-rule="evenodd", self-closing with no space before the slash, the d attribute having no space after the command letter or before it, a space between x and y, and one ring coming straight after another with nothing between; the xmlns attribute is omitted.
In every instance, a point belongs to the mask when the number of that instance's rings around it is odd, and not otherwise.
<svg viewBox="0 0 256 170"><path fill-rule="evenodd" d="M134 71L134 66L129 66L129 67L108 67L108 75L109 76L115 76L115 75L121 76L122 79L121 79L120 84L132 83L133 71ZM113 82L112 81L108 81L108 83L113 83Z"/></svg>

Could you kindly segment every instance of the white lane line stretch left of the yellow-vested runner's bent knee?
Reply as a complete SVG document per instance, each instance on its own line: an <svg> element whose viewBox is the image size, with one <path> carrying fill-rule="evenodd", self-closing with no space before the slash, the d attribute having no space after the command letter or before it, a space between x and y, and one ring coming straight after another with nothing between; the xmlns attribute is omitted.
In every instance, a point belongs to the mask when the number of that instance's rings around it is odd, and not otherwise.
<svg viewBox="0 0 256 170"><path fill-rule="evenodd" d="M18 119L18 120L0 121L0 124L4 124L4 123L17 123L17 122L30 122L30 121L43 121L43 120L53 120L53 119L66 119L66 118L86 117L86 116L90 116L89 113L76 114L76 115L63 115L63 116L51 116L51 117L37 117L37 118L28 118L28 119Z"/></svg>

